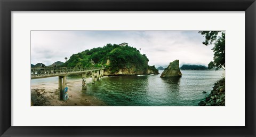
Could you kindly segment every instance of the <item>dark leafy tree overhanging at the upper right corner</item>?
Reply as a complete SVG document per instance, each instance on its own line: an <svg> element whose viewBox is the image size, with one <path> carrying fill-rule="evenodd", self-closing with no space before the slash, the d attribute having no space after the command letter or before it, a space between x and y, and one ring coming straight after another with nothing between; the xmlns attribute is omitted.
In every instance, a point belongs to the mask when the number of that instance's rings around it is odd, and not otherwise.
<svg viewBox="0 0 256 137"><path fill-rule="evenodd" d="M214 45L213 61L209 63L208 68L215 67L215 70L220 68L225 70L225 31L199 31L198 33L205 37L204 45Z"/></svg>

